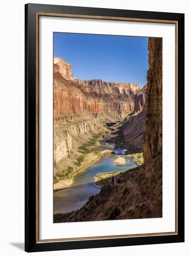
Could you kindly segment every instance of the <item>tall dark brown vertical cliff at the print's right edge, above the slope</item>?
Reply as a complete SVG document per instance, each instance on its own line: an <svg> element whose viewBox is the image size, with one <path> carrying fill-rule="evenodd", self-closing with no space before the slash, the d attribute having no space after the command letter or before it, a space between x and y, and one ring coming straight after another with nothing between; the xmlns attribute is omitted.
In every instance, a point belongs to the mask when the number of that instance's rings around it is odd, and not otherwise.
<svg viewBox="0 0 189 256"><path fill-rule="evenodd" d="M144 161L162 152L162 39L149 38L146 121L143 136Z"/></svg>

